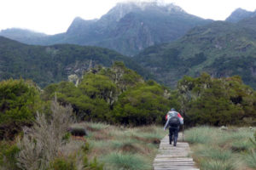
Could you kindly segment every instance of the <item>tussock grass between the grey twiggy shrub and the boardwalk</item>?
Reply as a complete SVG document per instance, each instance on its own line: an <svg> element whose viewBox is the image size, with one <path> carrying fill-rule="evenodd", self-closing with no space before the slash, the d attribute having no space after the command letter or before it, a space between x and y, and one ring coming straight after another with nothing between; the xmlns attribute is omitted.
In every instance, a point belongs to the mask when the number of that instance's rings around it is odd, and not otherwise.
<svg viewBox="0 0 256 170"><path fill-rule="evenodd" d="M115 127L104 123L84 122L90 144L89 159L98 157L104 169L153 169L154 156L160 139L166 132L162 127Z"/></svg>

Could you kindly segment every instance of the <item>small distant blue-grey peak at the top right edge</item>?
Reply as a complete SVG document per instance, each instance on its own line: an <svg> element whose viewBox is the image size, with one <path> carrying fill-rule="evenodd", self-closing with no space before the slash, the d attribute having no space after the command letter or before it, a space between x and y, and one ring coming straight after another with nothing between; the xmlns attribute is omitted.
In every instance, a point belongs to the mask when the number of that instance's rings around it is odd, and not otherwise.
<svg viewBox="0 0 256 170"><path fill-rule="evenodd" d="M240 20L256 16L255 12L250 12L242 8L237 8L230 16L226 19L228 22L237 23Z"/></svg>

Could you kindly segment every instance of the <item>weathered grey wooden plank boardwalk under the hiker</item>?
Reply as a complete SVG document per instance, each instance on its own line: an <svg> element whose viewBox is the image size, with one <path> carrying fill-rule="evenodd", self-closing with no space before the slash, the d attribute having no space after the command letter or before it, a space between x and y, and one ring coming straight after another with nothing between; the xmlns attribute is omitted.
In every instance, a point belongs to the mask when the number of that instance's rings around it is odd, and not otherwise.
<svg viewBox="0 0 256 170"><path fill-rule="evenodd" d="M189 144L182 142L182 134L178 135L177 146L169 144L169 136L161 140L159 153L154 158L154 170L199 170L189 156Z"/></svg>

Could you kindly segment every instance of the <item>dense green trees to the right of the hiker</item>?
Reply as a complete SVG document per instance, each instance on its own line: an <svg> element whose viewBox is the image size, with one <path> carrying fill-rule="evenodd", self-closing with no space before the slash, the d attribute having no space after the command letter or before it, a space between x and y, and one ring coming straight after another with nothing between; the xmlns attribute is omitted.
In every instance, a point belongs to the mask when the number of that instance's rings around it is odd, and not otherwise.
<svg viewBox="0 0 256 170"><path fill-rule="evenodd" d="M177 85L185 121L190 125L256 123L256 93L241 77L183 77Z"/></svg>

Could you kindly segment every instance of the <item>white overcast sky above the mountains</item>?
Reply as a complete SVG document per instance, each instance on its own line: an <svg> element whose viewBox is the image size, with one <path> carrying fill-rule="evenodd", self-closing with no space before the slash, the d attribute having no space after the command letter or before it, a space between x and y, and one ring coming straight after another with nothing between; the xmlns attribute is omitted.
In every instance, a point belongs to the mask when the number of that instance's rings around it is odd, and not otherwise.
<svg viewBox="0 0 256 170"><path fill-rule="evenodd" d="M67 31L77 16L100 18L124 0L0 0L0 30L19 27L47 34ZM126 0L125 0L126 1ZM189 14L225 20L236 8L254 11L256 0L160 0L175 3Z"/></svg>

